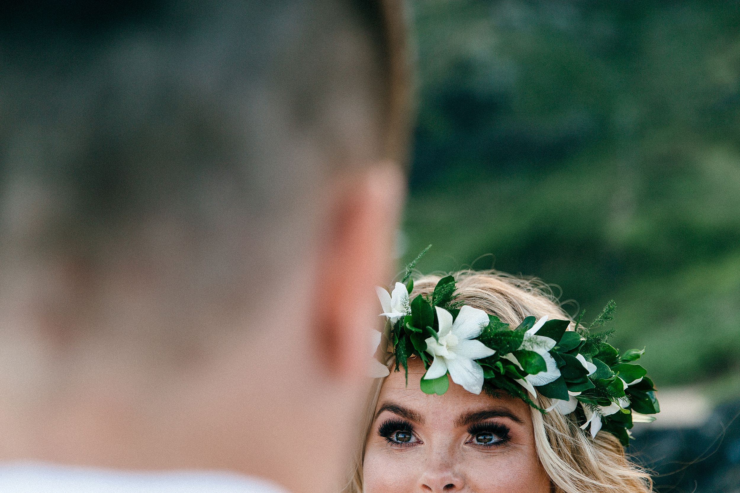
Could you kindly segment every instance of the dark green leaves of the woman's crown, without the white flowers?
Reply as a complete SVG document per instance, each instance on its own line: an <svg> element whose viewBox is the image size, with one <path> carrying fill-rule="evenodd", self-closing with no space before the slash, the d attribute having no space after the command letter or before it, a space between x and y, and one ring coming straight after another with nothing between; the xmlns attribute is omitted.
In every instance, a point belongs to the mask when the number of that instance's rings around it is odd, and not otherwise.
<svg viewBox="0 0 740 493"><path fill-rule="evenodd" d="M435 304L449 306L454 302L456 282L453 276L446 276L437 282L434 293L428 298L422 295L416 296L409 304L411 313L403 319L399 319L392 327L394 351L396 354L396 370L403 367L406 370L408 383L408 358L411 355L421 358L425 367L432 363L426 354L426 341L438 339L439 320L434 310ZM612 318L614 304L608 307L599 316L599 325ZM454 319L460 313L459 308L449 308ZM593 409L593 412L601 412L601 407L609 407L613 403L621 403L624 407L621 413L613 415L602 415L604 429L613 432L620 441L623 441L625 430L632 426L630 406L637 412L653 414L659 411L658 401L655 398L653 382L647 378L645 368L633 363L642 356L644 351L629 350L621 357L619 351L608 344L607 339L610 332L590 333L583 330L581 333L568 331L568 320L548 320L539 327L536 337L550 338L554 341L554 347L544 353L545 349L539 349L542 353L534 350L525 350L523 347L536 347L528 345L527 331L534 327L536 319L534 316L526 317L515 329L501 322L497 316L488 315L488 324L482 328L478 341L494 350L494 354L477 360L477 364L483 372L483 386L486 392L505 391L511 395L522 398L531 406L545 412L536 406L519 382L528 380L529 375L539 375L548 371L548 363L545 356L551 356L559 371L554 381L548 384L536 386L536 392L548 398L568 401L568 391L580 392L578 400ZM525 344L526 342L526 344ZM549 346L548 346L549 347ZM544 356L543 356L544 355ZM439 356L435 356L439 357ZM588 365L588 362L591 365ZM593 370L589 375L588 367ZM625 383L631 384L626 389ZM422 378L420 387L428 394L442 395L448 390L449 377L433 380ZM620 401L627 396L629 401ZM628 402L628 404L625 404Z"/></svg>

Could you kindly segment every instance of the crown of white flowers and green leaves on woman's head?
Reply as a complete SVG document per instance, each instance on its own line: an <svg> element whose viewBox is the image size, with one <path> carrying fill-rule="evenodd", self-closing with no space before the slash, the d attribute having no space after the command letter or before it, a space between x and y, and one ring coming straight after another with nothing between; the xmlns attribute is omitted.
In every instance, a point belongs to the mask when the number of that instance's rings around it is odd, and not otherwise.
<svg viewBox="0 0 740 493"><path fill-rule="evenodd" d="M607 343L610 331L591 332L613 318L614 302L588 328L580 324L581 313L576 330L568 330L570 320L547 316L528 316L511 330L497 316L458 301L454 276L440 279L431 296L409 302L413 288L408 279L397 282L392 293L377 288L377 294L395 370L403 367L408 381L408 358L420 358L426 369L420 387L427 394L443 395L448 377L474 394L503 390L543 413L575 412L592 438L602 429L623 446L629 444L633 423L654 421L647 415L660 411L653 381L633 363L645 350L619 353ZM375 363L373 376L388 375L385 365ZM551 407L539 407L537 395L551 398Z"/></svg>

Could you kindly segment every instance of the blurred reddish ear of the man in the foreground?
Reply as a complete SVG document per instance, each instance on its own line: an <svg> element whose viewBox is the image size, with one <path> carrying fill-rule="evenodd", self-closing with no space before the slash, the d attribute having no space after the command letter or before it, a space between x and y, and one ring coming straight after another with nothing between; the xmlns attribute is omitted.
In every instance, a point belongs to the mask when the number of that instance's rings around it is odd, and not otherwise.
<svg viewBox="0 0 740 493"><path fill-rule="evenodd" d="M332 183L314 290L314 341L330 377L355 379L369 368L369 330L378 326L376 285L393 267L406 177L397 166L372 166Z"/></svg>

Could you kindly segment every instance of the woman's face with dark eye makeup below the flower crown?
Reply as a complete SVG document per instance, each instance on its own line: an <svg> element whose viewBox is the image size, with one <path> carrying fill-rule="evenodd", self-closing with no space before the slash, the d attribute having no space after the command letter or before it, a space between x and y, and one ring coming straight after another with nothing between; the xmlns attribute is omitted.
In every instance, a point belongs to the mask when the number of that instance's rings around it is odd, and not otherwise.
<svg viewBox="0 0 740 493"><path fill-rule="evenodd" d="M445 395L419 388L417 359L383 383L365 449L365 493L547 493L528 404L474 395L450 381Z"/></svg>

